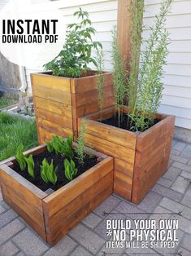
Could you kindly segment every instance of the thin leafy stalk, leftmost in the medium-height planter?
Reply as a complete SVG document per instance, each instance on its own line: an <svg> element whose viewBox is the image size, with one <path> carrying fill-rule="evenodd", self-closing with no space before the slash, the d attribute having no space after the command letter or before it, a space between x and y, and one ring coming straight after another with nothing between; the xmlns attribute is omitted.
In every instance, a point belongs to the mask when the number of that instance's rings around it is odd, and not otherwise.
<svg viewBox="0 0 191 256"><path fill-rule="evenodd" d="M101 110L101 121L102 121L102 108L104 106L104 55L103 51L97 51L97 68L98 68L98 78L97 78L97 86L98 86L98 103Z"/></svg>

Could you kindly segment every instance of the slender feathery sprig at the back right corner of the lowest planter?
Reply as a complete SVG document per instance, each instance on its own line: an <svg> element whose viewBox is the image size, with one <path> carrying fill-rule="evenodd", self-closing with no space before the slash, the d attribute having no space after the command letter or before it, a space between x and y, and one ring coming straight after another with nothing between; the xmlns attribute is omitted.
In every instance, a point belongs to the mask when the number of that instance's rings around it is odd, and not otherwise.
<svg viewBox="0 0 191 256"><path fill-rule="evenodd" d="M80 131L79 131L79 136L77 138L77 148L76 148L76 154L77 154L77 159L80 162L81 165L84 165L85 163L85 120L81 121L80 125Z"/></svg>

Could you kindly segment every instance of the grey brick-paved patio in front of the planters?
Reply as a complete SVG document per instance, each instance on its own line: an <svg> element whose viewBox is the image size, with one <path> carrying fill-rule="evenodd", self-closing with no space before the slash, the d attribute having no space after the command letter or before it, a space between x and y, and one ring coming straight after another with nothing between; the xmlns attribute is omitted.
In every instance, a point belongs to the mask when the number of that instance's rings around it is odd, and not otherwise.
<svg viewBox="0 0 191 256"><path fill-rule="evenodd" d="M113 214L103 216L103 211ZM175 214L179 211L182 216ZM136 213L142 213L141 217ZM110 239L106 236L107 218L176 218L178 245L174 249L106 249L106 240ZM52 248L2 201L0 193L0 256L178 255L179 252L179 255L191 255L190 144L173 141L169 169L139 205L112 195Z"/></svg>

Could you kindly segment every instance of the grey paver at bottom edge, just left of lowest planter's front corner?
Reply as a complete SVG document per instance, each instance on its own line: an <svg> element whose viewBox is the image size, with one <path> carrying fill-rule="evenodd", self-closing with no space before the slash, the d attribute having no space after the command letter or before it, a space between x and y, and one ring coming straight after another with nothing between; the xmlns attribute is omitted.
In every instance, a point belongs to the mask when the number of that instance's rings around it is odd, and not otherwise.
<svg viewBox="0 0 191 256"><path fill-rule="evenodd" d="M16 235L13 241L24 251L24 254L28 256L40 256L50 248L49 245L46 245L46 243L42 241L36 233L28 229L28 227Z"/></svg>

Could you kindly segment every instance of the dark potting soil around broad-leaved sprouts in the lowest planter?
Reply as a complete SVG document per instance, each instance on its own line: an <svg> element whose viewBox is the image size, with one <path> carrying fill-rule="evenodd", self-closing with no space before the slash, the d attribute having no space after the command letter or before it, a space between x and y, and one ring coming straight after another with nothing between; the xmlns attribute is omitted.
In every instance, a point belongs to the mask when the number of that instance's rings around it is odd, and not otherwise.
<svg viewBox="0 0 191 256"><path fill-rule="evenodd" d="M44 183L44 181L41 179L41 163L44 158L46 158L46 161L48 161L49 163L53 159L54 167L58 166L58 170L56 173L58 180L57 180L57 183L55 184L55 186L52 183ZM45 151L36 156L33 156L33 160L35 163L35 171L36 171L35 179L33 179L28 174L27 170L24 170L24 171L20 170L20 165L18 164L18 162L15 162L13 169L18 174L20 174L25 179L27 179L29 182L31 182L35 186L37 186L37 188L40 188L42 191L45 192L49 188L56 191L59 188L62 188L64 185L66 185L67 183L70 182L65 176L64 165L63 165L64 158L65 157L63 157L62 155L56 155L55 152L50 153L48 151ZM76 159L76 155L75 155L73 161L75 161L76 168L78 169L78 173L74 179L76 179L78 176L80 176L80 174L83 174L86 170L89 170L90 168L92 168L93 166L95 166L98 163L97 157L89 157L88 155L86 155L86 157L85 157L85 164L83 166L80 165L79 161Z"/></svg>

